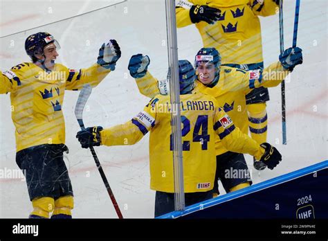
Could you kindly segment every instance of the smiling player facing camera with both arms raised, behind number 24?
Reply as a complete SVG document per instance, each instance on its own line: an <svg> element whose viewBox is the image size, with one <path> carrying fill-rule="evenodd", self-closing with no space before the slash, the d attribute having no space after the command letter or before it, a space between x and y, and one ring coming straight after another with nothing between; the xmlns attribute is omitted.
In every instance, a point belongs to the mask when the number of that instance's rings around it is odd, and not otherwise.
<svg viewBox="0 0 328 241"><path fill-rule="evenodd" d="M206 93L216 98L219 106L233 119L235 125L248 134L245 93L255 87L275 87L286 78L293 68L302 64L302 50L298 47L288 48L280 55L280 62L275 62L263 71L244 71L229 66L220 66L221 57L215 48L201 48L195 56L195 66L198 75L196 91ZM167 94L166 81L157 81L147 67L149 57L141 54L131 57L129 62L130 74L136 79L140 93L153 98L158 93ZM216 141L217 178L221 180L227 193L250 186L249 177L226 178L226 170L243 170L249 173L244 155L229 152L221 141ZM215 182L217 189L217 182ZM217 190L218 193L218 190Z"/></svg>

